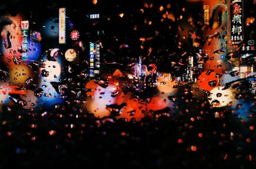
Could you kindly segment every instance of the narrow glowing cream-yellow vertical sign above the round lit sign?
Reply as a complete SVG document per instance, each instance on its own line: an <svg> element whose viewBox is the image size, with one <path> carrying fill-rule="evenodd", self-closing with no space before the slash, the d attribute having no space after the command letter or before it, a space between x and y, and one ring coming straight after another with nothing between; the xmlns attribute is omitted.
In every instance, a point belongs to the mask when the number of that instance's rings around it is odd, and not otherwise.
<svg viewBox="0 0 256 169"><path fill-rule="evenodd" d="M66 8L60 8L59 10L59 43L60 44L64 44L66 42L65 29L66 29Z"/></svg>

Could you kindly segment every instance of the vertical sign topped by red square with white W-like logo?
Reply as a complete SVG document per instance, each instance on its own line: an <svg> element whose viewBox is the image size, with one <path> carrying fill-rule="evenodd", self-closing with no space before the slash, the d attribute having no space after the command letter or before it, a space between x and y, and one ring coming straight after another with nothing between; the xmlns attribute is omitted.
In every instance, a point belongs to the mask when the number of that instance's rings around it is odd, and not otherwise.
<svg viewBox="0 0 256 169"><path fill-rule="evenodd" d="M28 20L21 21L21 32L22 32L22 59L28 59L28 33L29 22Z"/></svg>

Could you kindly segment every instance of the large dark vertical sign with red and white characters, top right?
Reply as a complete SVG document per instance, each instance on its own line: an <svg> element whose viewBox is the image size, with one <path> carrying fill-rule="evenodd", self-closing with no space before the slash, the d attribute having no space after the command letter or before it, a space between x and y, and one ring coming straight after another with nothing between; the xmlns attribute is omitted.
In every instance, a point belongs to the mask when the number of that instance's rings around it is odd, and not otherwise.
<svg viewBox="0 0 256 169"><path fill-rule="evenodd" d="M236 48L244 40L243 1L228 0L228 48Z"/></svg>

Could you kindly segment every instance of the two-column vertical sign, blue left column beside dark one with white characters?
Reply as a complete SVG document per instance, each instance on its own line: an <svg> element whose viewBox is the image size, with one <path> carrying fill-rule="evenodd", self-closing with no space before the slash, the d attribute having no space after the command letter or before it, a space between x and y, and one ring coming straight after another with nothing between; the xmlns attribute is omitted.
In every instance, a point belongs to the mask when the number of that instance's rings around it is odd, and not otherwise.
<svg viewBox="0 0 256 169"><path fill-rule="evenodd" d="M90 77L100 73L100 45L90 42Z"/></svg>

